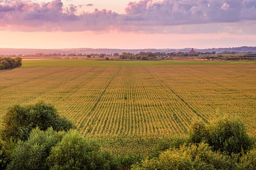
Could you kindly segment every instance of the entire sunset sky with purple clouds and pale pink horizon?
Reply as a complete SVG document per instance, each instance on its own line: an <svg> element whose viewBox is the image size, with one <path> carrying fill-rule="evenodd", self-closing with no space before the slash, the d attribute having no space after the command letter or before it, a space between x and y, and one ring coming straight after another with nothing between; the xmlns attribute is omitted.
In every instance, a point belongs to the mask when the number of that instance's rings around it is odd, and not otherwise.
<svg viewBox="0 0 256 170"><path fill-rule="evenodd" d="M0 48L256 46L256 0L0 0Z"/></svg>

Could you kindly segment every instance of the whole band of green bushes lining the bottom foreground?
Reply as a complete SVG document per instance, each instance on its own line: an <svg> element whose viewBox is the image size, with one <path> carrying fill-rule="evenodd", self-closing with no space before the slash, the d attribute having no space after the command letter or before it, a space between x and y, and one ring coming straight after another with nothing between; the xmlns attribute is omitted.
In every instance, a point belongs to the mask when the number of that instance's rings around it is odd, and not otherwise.
<svg viewBox="0 0 256 170"><path fill-rule="evenodd" d="M152 155L122 160L80 135L52 104L13 104L1 119L1 170L256 170L255 139L230 117L196 121Z"/></svg>

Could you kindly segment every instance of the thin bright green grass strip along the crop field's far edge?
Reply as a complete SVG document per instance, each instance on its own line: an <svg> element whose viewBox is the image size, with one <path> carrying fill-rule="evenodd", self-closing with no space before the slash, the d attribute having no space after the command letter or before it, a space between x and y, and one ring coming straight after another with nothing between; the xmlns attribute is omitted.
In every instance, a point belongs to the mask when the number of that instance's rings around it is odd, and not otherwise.
<svg viewBox="0 0 256 170"><path fill-rule="evenodd" d="M93 59L45 59L24 60L22 67L47 67L47 66L168 66L168 65L241 65L256 64L256 61L99 61Z"/></svg>

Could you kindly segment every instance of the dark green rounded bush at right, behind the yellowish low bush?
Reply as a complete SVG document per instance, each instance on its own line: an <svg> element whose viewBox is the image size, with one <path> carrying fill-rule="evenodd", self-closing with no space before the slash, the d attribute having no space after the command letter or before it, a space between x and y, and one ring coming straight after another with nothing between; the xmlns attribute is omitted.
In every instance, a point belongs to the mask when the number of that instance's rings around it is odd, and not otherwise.
<svg viewBox="0 0 256 170"><path fill-rule="evenodd" d="M214 151L240 153L253 145L253 139L246 134L245 125L238 119L224 117L205 125L203 122L192 124L189 132L192 143L207 142Z"/></svg>

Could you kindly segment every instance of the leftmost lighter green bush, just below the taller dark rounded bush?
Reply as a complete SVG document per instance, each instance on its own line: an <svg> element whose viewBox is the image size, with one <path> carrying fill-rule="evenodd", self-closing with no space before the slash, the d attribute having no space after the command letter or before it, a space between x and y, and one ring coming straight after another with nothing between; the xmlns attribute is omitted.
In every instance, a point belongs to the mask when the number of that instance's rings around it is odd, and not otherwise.
<svg viewBox="0 0 256 170"><path fill-rule="evenodd" d="M45 132L39 128L33 129L27 141L19 140L7 170L48 170L47 156L63 135L63 132L57 133L53 128Z"/></svg>

